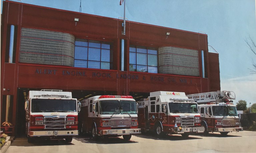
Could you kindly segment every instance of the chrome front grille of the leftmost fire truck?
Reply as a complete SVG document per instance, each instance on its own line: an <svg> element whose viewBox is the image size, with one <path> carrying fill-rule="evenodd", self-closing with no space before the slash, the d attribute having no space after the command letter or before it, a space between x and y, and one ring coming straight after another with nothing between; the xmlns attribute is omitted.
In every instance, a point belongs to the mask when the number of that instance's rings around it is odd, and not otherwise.
<svg viewBox="0 0 256 153"><path fill-rule="evenodd" d="M64 129L66 128L66 117L45 117L45 129Z"/></svg>

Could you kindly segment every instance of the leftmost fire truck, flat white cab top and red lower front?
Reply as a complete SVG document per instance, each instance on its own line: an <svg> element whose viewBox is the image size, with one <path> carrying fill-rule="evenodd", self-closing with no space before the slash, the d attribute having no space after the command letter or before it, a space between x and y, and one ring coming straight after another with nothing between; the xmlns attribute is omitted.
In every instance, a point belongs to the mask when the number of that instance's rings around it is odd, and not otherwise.
<svg viewBox="0 0 256 153"><path fill-rule="evenodd" d="M65 139L78 135L78 112L81 103L71 92L62 90L29 91L25 102L28 142L36 138Z"/></svg>

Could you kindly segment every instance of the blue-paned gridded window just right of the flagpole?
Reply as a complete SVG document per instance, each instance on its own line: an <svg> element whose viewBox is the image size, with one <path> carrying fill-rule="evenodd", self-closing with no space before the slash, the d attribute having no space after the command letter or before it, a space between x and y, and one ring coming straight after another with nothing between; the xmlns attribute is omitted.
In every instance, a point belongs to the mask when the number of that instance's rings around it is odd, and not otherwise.
<svg viewBox="0 0 256 153"><path fill-rule="evenodd" d="M157 73L157 50L130 46L130 71Z"/></svg>

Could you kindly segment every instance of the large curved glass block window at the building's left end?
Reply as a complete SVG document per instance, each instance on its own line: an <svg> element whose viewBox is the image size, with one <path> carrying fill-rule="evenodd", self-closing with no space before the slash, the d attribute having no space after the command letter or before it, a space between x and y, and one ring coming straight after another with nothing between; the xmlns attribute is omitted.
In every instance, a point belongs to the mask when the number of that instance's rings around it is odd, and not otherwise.
<svg viewBox="0 0 256 153"><path fill-rule="evenodd" d="M74 42L69 33L21 28L19 62L74 66Z"/></svg>

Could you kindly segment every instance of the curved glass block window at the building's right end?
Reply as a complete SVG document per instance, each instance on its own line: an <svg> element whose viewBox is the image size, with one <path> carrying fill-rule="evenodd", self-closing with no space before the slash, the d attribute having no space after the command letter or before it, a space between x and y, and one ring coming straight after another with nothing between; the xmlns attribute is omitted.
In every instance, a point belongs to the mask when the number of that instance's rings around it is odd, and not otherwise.
<svg viewBox="0 0 256 153"><path fill-rule="evenodd" d="M158 48L159 73L199 76L198 51L179 47Z"/></svg>

